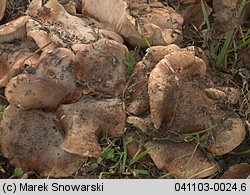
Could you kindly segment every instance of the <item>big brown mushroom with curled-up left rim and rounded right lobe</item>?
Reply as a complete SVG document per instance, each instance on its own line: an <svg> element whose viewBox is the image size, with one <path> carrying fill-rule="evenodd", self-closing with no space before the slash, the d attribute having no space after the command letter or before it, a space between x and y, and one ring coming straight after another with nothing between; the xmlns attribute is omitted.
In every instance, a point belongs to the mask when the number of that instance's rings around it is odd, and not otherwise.
<svg viewBox="0 0 250 195"><path fill-rule="evenodd" d="M180 133L212 128L214 140L207 147L214 155L222 155L244 140L245 127L234 113L225 115L215 109L215 102L205 93L206 84L202 84L205 72L206 64L192 51L166 55L149 76L150 114L156 129L162 122L168 124L168 130Z"/></svg>

